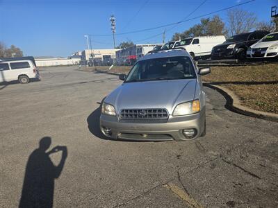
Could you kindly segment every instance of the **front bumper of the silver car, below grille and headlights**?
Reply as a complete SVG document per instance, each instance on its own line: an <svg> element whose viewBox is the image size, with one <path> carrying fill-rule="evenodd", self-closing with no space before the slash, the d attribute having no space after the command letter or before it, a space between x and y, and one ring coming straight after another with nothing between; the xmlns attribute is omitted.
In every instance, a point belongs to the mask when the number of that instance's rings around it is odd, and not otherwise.
<svg viewBox="0 0 278 208"><path fill-rule="evenodd" d="M117 116L101 114L99 126L106 137L113 139L137 141L188 140L183 135L182 130L195 129L197 134L192 139L199 137L204 130L205 118L205 108L197 114L170 116L167 123L125 123L121 122ZM106 134L104 128L111 129L111 134Z"/></svg>

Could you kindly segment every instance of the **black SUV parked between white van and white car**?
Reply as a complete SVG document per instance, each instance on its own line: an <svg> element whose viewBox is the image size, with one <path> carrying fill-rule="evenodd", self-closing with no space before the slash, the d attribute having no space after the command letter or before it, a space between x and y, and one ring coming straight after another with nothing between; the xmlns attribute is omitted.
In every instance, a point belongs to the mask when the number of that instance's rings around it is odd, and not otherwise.
<svg viewBox="0 0 278 208"><path fill-rule="evenodd" d="M248 47L261 40L268 33L267 31L254 31L231 36L222 44L213 47L211 59L237 58L243 60Z"/></svg>

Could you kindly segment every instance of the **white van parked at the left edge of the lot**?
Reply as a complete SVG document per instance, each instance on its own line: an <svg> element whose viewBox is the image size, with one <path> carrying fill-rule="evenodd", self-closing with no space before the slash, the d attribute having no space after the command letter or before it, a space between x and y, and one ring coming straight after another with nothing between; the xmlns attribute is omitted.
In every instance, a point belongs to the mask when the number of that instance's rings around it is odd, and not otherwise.
<svg viewBox="0 0 278 208"><path fill-rule="evenodd" d="M0 61L0 83L19 80L25 84L33 78L40 80L40 74L31 60Z"/></svg>

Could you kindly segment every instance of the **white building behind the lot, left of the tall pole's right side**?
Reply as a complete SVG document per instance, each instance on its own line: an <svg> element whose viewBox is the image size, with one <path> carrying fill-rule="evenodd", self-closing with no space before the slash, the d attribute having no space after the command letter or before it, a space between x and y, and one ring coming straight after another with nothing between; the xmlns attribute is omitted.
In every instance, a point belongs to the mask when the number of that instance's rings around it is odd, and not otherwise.
<svg viewBox="0 0 278 208"><path fill-rule="evenodd" d="M92 50L84 50L81 55L81 62L85 64L89 60L92 60L92 56L94 58L94 62L111 62L116 58L116 51L120 49L92 49Z"/></svg>

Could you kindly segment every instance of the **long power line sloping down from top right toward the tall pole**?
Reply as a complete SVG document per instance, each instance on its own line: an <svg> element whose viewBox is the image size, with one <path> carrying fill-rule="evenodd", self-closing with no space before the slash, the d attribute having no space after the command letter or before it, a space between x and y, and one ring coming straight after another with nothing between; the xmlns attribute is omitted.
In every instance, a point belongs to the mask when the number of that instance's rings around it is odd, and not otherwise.
<svg viewBox="0 0 278 208"><path fill-rule="evenodd" d="M200 17L205 17L205 16L208 16L208 15L213 15L213 14L215 14L217 12L222 12L224 10L229 10L231 8L235 8L237 6L241 6L241 5L244 5L244 4L247 4L247 3L251 3L253 1L256 1L256 0L250 0L250 1L243 2L243 3L238 3L238 4L234 5L234 6L229 6L227 8L222 8L221 10L216 10L214 12L209 12L209 13L206 13L205 15L199 15L197 17L193 17L193 18L190 18L190 19L186 19L186 20L182 20L182 21L177 21L177 22L174 22L174 23L165 24L165 25L161 25L161 26L156 26L156 27L153 27L153 28L145 28L145 29L141 29L141 30L138 30L138 31L130 31L130 32L126 32L126 33L118 33L117 35L127 35L127 34L131 34L131 33L141 33L141 32L145 32L145 31L152 31L152 30L155 30L155 29L158 29L158 28L165 28L167 26L181 24L181 23L186 22L186 21L190 21L190 20L193 20L193 19L199 19ZM111 34L94 35L94 36L111 36Z"/></svg>

